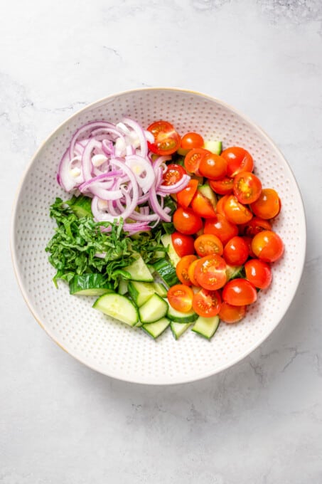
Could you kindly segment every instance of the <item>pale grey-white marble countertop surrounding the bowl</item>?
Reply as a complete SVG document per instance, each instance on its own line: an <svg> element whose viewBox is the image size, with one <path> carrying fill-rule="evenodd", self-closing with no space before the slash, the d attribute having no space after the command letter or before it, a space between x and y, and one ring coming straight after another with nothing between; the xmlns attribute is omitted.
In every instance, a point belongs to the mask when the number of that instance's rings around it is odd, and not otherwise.
<svg viewBox="0 0 322 484"><path fill-rule="evenodd" d="M321 1L11 0L0 31L0 483L321 483ZM235 367L171 387L109 379L53 344L23 302L7 236L21 172L60 122L160 85L215 95L261 125L308 223L277 330Z"/></svg>

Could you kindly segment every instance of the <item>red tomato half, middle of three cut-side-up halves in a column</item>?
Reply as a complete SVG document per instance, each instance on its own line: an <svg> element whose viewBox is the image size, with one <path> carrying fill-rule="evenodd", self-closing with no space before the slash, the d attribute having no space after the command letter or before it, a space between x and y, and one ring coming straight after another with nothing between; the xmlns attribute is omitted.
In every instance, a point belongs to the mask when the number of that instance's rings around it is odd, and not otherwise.
<svg viewBox="0 0 322 484"><path fill-rule="evenodd" d="M217 254L200 258L195 264L195 279L204 289L222 288L227 280L226 263L223 258Z"/></svg>

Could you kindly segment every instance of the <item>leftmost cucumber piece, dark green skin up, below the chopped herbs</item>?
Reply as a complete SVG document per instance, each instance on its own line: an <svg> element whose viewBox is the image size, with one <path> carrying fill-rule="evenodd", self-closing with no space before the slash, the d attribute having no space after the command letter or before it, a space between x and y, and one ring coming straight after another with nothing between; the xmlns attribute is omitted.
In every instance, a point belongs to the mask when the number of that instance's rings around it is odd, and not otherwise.
<svg viewBox="0 0 322 484"><path fill-rule="evenodd" d="M112 285L106 282L102 274L74 275L70 280L70 294L82 296L100 296L105 293L114 293Z"/></svg>

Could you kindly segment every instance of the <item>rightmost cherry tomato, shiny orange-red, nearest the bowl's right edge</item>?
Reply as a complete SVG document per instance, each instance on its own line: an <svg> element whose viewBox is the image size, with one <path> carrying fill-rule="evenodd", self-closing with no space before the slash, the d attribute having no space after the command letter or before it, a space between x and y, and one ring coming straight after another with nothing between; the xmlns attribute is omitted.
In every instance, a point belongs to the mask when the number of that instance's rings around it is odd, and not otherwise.
<svg viewBox="0 0 322 484"><path fill-rule="evenodd" d="M284 243L276 232L264 230L252 239L252 251L262 261L274 262L283 255Z"/></svg>

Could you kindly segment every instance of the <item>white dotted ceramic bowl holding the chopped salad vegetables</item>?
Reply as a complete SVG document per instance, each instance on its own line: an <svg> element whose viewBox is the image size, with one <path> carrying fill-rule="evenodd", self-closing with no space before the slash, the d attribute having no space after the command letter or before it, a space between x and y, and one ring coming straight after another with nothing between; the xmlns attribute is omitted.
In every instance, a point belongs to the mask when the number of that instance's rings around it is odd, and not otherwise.
<svg viewBox="0 0 322 484"><path fill-rule="evenodd" d="M45 246L53 235L48 209L56 196L58 162L71 135L91 120L118 122L129 115L143 126L165 119L178 132L200 132L224 147L240 145L254 157L263 186L277 189L282 211L274 230L285 254L274 264L269 290L237 325L220 325L208 342L193 332L175 341L167 330L156 342L141 330L111 321L92 309L92 298L70 296L53 286L55 273ZM23 297L41 327L65 351L111 377L144 384L178 384L208 377L252 352L274 330L299 285L306 248L304 207L291 169L272 140L253 122L220 100L188 90L146 88L111 95L87 106L60 125L41 145L23 176L14 206L11 251Z"/></svg>

